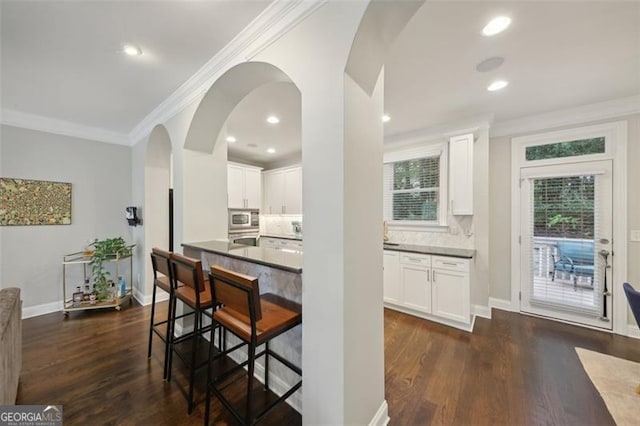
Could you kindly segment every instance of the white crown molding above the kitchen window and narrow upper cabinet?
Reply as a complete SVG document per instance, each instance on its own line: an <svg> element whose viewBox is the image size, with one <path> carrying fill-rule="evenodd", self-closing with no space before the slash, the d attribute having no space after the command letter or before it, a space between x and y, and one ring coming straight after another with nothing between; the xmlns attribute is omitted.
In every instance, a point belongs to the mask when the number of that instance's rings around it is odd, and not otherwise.
<svg viewBox="0 0 640 426"><path fill-rule="evenodd" d="M441 139L449 139L465 133L475 133L480 129L488 129L493 123L493 114L468 117L462 120L424 127L409 132L395 133L384 137L384 144L394 147L411 145L419 142L432 142Z"/></svg>

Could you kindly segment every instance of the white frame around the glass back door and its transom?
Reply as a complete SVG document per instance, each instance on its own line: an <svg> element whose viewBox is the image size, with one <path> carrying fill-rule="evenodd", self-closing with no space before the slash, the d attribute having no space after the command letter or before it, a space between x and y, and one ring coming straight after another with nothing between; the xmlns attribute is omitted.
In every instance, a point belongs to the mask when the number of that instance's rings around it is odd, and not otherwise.
<svg viewBox="0 0 640 426"><path fill-rule="evenodd" d="M554 142L605 137L605 153L572 157L571 161L613 160L612 279L613 332L629 335L627 305L622 283L627 281L627 121L538 133L511 139L511 306L520 311L520 168L561 164L566 158L526 161L525 148Z"/></svg>

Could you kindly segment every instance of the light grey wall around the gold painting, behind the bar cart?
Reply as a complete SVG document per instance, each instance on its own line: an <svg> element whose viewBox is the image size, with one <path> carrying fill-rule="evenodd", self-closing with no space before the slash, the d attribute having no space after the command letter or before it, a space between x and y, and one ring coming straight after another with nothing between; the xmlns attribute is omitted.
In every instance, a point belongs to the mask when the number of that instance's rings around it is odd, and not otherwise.
<svg viewBox="0 0 640 426"><path fill-rule="evenodd" d="M61 302L64 254L93 238L132 241L124 212L131 205L131 149L10 126L1 132L3 177L72 184L71 225L2 229L2 284L22 289L28 315Z"/></svg>

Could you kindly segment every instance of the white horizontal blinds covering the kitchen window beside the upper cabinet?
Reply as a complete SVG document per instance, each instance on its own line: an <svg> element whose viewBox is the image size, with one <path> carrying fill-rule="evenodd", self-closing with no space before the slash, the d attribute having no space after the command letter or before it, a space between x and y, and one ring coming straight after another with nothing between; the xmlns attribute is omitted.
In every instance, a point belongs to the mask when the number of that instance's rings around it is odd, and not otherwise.
<svg viewBox="0 0 640 426"><path fill-rule="evenodd" d="M436 223L439 192L439 155L385 163L385 220Z"/></svg>

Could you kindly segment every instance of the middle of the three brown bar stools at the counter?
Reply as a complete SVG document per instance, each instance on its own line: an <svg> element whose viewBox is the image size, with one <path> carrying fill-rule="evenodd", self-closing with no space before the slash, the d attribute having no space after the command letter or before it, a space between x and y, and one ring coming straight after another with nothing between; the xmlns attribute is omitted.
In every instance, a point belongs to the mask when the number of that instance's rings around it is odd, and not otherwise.
<svg viewBox="0 0 640 426"><path fill-rule="evenodd" d="M213 320L211 325L205 326L202 321L203 314L212 319L212 315L207 312L208 309L212 309L214 304L211 298L210 286L205 282L204 272L202 271L202 262L200 260L191 259L182 256L177 253L171 255L171 277L173 280L172 286L172 304L171 311L173 315L170 320L171 335L169 338L169 357L167 366L167 381L171 381L171 369L173 363L173 355L176 354L178 358L189 369L189 390L184 392L188 402L188 413L191 414L195 408L194 402L194 383L196 378L196 371L200 367L207 365L208 357L204 362L196 364L198 340L208 331L212 331ZM180 300L183 304L193 310L182 315L176 315L176 304ZM175 336L175 321L180 318L193 315L193 331L183 334L179 337ZM181 353L177 350L177 345L181 342L191 339L191 352L189 354Z"/></svg>

